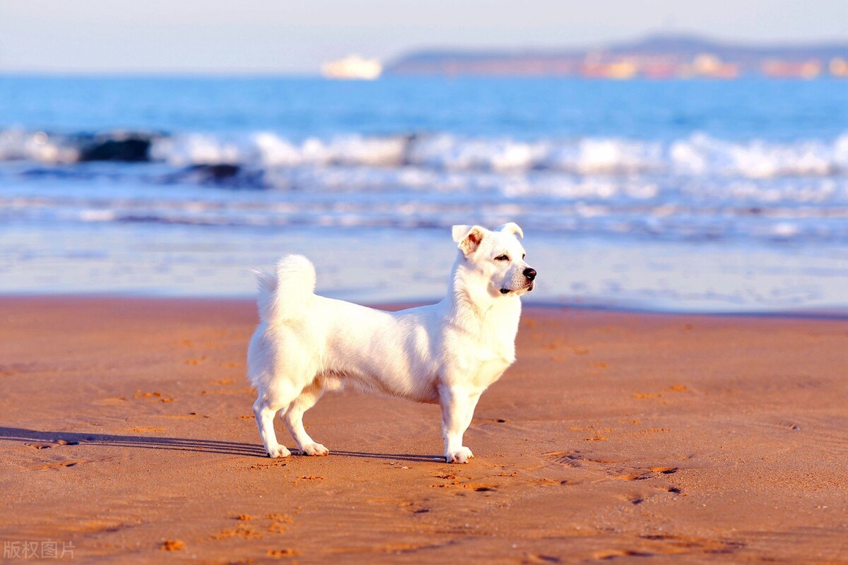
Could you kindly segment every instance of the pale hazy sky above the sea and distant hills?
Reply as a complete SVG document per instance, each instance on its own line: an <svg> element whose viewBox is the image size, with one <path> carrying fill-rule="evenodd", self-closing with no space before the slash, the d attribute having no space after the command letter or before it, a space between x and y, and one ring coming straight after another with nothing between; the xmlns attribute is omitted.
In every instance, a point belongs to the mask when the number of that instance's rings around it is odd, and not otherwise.
<svg viewBox="0 0 848 565"><path fill-rule="evenodd" d="M845 0L0 0L0 72L315 74L351 53L602 45L694 32L848 41Z"/></svg>

